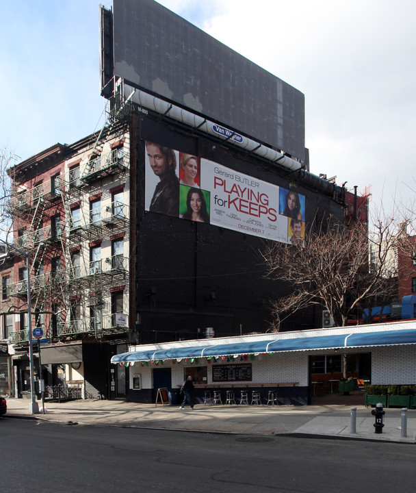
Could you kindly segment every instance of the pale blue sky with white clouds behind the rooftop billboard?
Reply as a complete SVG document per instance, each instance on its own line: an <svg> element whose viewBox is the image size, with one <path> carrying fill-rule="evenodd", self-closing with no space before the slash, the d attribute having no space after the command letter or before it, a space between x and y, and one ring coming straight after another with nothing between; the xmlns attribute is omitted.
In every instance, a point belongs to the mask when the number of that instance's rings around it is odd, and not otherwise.
<svg viewBox="0 0 416 493"><path fill-rule="evenodd" d="M304 93L311 173L371 190L372 209L413 202L414 0L159 3ZM103 126L99 4L1 1L0 148L16 162Z"/></svg>

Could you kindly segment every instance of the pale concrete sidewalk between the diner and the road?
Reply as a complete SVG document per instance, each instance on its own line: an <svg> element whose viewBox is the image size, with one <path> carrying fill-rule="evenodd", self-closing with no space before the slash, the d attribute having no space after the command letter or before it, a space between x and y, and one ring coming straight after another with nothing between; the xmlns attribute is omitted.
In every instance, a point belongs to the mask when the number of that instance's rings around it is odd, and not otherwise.
<svg viewBox="0 0 416 493"><path fill-rule="evenodd" d="M29 400L8 399L5 418L50 420L64 425L94 425L238 433L246 435L295 435L416 443L416 410L407 412L407 436L401 437L401 409L385 409L385 427L374 433L371 408L357 399L331 404L314 399L310 406L197 405L192 411L179 406L79 400L45 403L45 414L29 414ZM334 399L333 399L334 400ZM338 399L339 401L339 399ZM348 401L348 403L347 403ZM316 403L320 405L316 405ZM329 398L330 402L330 398ZM341 401L342 402L342 401ZM39 409L42 403L39 401ZM356 407L356 433L351 433L351 407Z"/></svg>

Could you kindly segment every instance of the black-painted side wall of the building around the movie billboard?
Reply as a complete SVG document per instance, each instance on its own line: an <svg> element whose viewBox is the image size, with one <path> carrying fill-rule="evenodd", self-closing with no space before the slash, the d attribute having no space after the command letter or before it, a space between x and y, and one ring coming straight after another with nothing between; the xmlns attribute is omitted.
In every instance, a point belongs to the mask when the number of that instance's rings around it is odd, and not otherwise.
<svg viewBox="0 0 416 493"><path fill-rule="evenodd" d="M293 185L296 176L232 144L226 147L208 136L191 135L151 115L139 114L137 131L135 307L141 318L130 342L203 338L206 327L213 327L216 337L266 331L270 299L287 294L288 289L264 277L261 252L270 240L146 212L144 142L148 139L194 153L284 188ZM328 195L299 181L296 191L307 197L307 224L313 222L317 210L343 217L343 205ZM321 312L311 309L291 317L283 330L311 329L320 323Z"/></svg>

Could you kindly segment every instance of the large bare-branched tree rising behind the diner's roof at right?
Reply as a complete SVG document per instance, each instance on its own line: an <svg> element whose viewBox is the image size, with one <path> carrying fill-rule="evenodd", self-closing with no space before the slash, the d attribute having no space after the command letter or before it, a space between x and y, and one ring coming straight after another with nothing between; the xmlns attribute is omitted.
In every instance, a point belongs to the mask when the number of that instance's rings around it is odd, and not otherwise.
<svg viewBox="0 0 416 493"><path fill-rule="evenodd" d="M330 218L329 218L330 219ZM400 236L393 219L374 222L369 233L360 222L321 222L305 234L304 245L276 243L263 255L268 277L287 283L291 294L272 301L272 331L288 314L320 305L336 326L347 325L365 307L391 299L397 281Z"/></svg>

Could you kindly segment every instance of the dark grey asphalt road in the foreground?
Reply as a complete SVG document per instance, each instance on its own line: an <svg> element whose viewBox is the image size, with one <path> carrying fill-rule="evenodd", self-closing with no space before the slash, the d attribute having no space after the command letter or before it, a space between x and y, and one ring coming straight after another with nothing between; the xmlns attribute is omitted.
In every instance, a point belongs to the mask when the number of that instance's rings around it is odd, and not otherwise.
<svg viewBox="0 0 416 493"><path fill-rule="evenodd" d="M2 493L413 490L411 444L0 419Z"/></svg>

